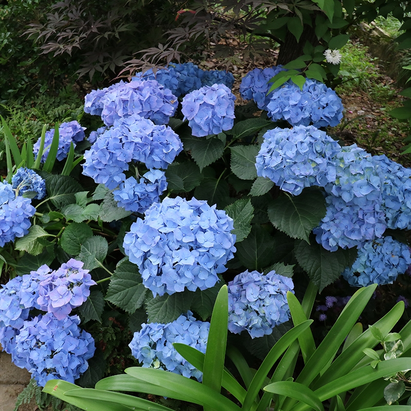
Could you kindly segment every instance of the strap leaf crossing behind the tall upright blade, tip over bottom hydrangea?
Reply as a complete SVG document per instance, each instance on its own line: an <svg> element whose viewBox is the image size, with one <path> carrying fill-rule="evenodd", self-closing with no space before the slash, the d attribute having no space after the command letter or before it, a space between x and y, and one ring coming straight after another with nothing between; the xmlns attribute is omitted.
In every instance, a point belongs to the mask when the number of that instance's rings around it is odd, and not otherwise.
<svg viewBox="0 0 411 411"><path fill-rule="evenodd" d="M206 357L201 351L189 345L174 343L173 347L188 361L191 365L202 371L204 367L204 358ZM241 404L244 402L247 391L241 387L238 381L226 370L223 371L221 385L226 388Z"/></svg>

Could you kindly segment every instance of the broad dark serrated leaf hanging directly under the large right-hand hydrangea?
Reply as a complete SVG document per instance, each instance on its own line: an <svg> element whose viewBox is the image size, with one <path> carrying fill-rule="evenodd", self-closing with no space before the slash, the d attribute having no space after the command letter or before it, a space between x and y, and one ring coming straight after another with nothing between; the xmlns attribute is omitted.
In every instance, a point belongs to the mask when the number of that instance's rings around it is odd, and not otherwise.
<svg viewBox="0 0 411 411"><path fill-rule="evenodd" d="M268 216L275 228L307 242L311 230L325 214L325 198L318 190L304 190L298 196L279 196L268 206Z"/></svg>

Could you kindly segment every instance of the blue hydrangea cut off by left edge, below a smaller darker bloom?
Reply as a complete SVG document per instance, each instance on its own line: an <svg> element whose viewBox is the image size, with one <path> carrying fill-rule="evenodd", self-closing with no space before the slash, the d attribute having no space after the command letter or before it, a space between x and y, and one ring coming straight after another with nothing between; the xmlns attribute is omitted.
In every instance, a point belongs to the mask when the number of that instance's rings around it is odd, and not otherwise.
<svg viewBox="0 0 411 411"><path fill-rule="evenodd" d="M29 198L15 197L12 185L6 181L0 182L0 201L0 247L4 247L28 233L35 208Z"/></svg>

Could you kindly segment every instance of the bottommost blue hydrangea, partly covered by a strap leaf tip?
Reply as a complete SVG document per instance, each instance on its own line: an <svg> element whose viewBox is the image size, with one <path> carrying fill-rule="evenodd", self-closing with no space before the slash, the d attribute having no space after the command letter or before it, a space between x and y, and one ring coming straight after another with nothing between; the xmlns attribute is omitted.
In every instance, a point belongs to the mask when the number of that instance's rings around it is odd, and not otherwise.
<svg viewBox="0 0 411 411"><path fill-rule="evenodd" d="M142 324L141 330L134 333L129 347L142 367L162 368L201 381L202 372L185 361L173 343L189 345L205 353L209 330L210 323L197 321L189 311L172 323Z"/></svg>

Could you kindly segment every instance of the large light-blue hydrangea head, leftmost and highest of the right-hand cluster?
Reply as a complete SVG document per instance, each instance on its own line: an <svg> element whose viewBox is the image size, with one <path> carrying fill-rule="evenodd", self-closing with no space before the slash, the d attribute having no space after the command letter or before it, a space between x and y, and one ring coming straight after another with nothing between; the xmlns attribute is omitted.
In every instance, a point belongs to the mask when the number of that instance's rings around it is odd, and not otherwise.
<svg viewBox="0 0 411 411"><path fill-rule="evenodd" d="M305 187L324 187L335 181L333 157L341 146L325 132L313 126L277 127L263 138L255 164L258 176L294 195Z"/></svg>

